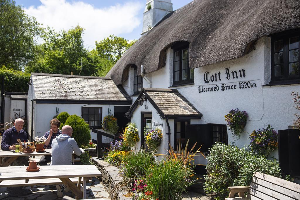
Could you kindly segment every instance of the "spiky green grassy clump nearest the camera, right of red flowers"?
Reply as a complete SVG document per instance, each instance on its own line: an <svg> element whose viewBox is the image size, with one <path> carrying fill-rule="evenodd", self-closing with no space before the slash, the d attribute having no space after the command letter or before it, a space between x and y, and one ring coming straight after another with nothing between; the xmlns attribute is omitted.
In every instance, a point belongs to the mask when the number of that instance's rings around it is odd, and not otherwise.
<svg viewBox="0 0 300 200"><path fill-rule="evenodd" d="M179 160L167 160L147 167L147 190L160 200L179 200L186 188L193 184L189 177L193 174Z"/></svg>

